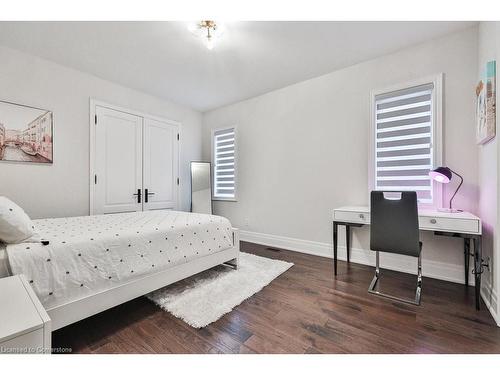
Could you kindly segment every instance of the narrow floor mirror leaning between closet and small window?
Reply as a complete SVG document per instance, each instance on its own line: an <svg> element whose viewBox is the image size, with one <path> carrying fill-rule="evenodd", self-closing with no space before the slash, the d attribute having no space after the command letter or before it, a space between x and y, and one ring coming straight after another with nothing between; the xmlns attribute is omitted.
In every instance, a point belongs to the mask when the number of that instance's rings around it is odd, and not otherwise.
<svg viewBox="0 0 500 375"><path fill-rule="evenodd" d="M209 162L191 162L191 212L212 214L212 177Z"/></svg>

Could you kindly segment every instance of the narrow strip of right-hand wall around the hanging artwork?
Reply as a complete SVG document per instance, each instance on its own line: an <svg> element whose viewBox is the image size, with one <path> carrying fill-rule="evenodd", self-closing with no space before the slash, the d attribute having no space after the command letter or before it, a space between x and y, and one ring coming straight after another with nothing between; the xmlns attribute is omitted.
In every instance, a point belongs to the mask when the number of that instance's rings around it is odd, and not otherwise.
<svg viewBox="0 0 500 375"><path fill-rule="evenodd" d="M477 80L481 77L485 64L491 60L500 61L500 26L498 22L481 22L478 34L478 71ZM498 82L498 79L497 79ZM497 108L498 108L497 93ZM493 316L498 319L500 311L498 300L498 283L500 273L500 247L498 245L498 137L487 144L479 146L479 214L483 221L483 258L491 259L491 268L485 269L482 276L483 297L490 305ZM497 232L498 233L498 232Z"/></svg>

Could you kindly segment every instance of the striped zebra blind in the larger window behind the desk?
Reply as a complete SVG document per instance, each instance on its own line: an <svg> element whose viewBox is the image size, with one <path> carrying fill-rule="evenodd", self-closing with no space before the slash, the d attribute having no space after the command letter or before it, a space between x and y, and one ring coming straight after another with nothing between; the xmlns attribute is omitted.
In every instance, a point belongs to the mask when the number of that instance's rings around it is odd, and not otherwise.
<svg viewBox="0 0 500 375"><path fill-rule="evenodd" d="M375 190L412 190L432 203L432 83L375 96Z"/></svg>

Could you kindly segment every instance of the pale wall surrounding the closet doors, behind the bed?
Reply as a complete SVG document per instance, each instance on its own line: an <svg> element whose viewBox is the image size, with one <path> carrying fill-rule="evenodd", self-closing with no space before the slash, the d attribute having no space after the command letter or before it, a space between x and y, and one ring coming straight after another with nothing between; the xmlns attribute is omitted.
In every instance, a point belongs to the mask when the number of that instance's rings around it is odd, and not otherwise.
<svg viewBox="0 0 500 375"><path fill-rule="evenodd" d="M0 162L0 195L34 218L89 214L89 98L180 121L181 206L189 162L201 157L201 114L61 65L0 47L0 100L54 112L54 164Z"/></svg>

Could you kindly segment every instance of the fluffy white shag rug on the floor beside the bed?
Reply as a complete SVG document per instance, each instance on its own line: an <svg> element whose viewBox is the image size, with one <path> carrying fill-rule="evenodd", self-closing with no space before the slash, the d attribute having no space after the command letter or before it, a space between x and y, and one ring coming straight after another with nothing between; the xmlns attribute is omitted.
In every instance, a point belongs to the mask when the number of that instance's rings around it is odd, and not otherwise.
<svg viewBox="0 0 500 375"><path fill-rule="evenodd" d="M146 295L190 326L202 328L251 297L293 263L240 253L238 269L217 266Z"/></svg>

